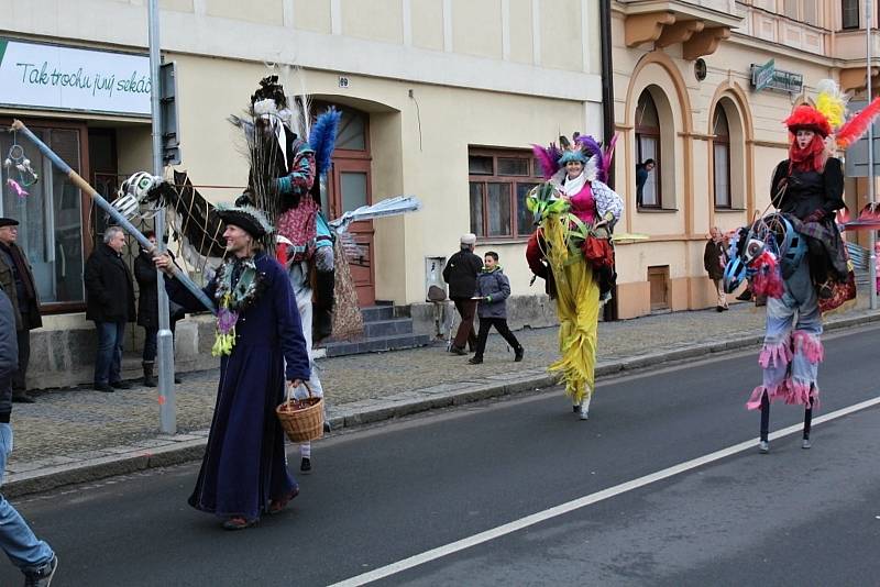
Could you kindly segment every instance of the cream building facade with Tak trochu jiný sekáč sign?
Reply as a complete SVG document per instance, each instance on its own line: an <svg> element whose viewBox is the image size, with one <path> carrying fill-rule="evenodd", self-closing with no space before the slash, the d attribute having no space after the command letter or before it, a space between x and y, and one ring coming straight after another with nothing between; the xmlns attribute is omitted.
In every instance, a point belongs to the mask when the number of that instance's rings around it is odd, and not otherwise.
<svg viewBox="0 0 880 587"><path fill-rule="evenodd" d="M602 135L598 2L160 4L163 60L176 68L175 168L209 200L232 201L244 188L242 139L227 118L276 74L292 93L305 88L314 111L343 112L328 215L404 193L422 201L417 213L355 228L362 304L425 302L431 264L466 232L479 235L479 252L501 254L516 294L537 296L522 256L531 230L524 199L539 181L529 145L573 131ZM0 0L0 125L21 118L112 199L125 177L152 167L146 1ZM34 265L47 314L34 336L46 339L52 373L69 373L77 357L64 348L91 336L82 264L103 219L21 137L0 134L3 155L15 140L42 181L26 198L4 190L0 212L22 221Z"/></svg>

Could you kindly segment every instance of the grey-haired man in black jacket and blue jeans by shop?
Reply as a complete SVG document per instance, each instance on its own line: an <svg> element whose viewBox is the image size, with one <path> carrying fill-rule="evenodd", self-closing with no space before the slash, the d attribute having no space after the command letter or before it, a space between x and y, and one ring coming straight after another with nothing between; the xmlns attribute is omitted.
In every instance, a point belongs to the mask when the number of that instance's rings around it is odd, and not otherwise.
<svg viewBox="0 0 880 587"><path fill-rule="evenodd" d="M95 359L98 391L131 388L121 375L125 323L134 319L134 285L122 259L123 248L125 234L119 226L110 226L103 234L103 243L86 262L86 319L94 320L98 331Z"/></svg>

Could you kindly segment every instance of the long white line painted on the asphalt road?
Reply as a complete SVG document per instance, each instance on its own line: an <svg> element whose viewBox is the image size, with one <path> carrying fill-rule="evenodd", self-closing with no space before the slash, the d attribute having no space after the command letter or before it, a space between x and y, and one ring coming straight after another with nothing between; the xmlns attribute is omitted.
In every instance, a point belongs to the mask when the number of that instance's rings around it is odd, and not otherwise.
<svg viewBox="0 0 880 587"><path fill-rule="evenodd" d="M880 405L880 396L866 401L861 401L859 403L854 403L853 406L849 406L847 408L842 408L834 412L818 416L813 419L813 425L836 420L838 418L843 418L845 416L849 416L850 413L855 413L857 411L865 410L867 408L871 408L878 405ZM769 438L770 440L776 440L782 436L788 436L789 434L794 434L795 432L801 432L801 430L802 430L802 424L799 423L772 432L770 433ZM392 575L396 575L397 573L403 573L404 571L407 571L409 568L414 568L419 565L430 563L431 561L437 561L438 558L442 558L443 556L448 556L450 554L461 552L465 549L470 549L471 546L476 546L477 544L490 542L501 536L512 534L514 532L522 530L524 528L529 528L530 525L535 525L543 521L550 520L552 518L563 516L571 511L585 508L586 506L604 501L605 499L619 496L620 494L632 491L634 489L638 489L639 487L645 487L646 485L668 479L669 477L673 477L675 475L680 475L688 470L702 467L703 465L706 465L708 463L721 461L722 458L726 458L728 456L741 453L744 451L752 451L756 447L756 443L757 439L749 440L746 442L740 442L739 444L734 444L733 446L722 448L721 451L716 451L714 453L710 453L707 455L703 455L697 458L693 458L691 461L685 461L684 463L680 463L669 468L658 470L657 473L651 473L650 475L646 475L644 477L639 477L637 479L632 479L623 483L620 485L603 489L602 491L596 491L595 494L591 494L588 496L584 496L574 499L572 501L561 503L550 509L532 513L531 516L526 516L525 518L520 518L519 520L514 520L513 522L498 525L491 530L486 530L485 532L480 532L479 534L474 534L472 536L468 536L462 540L457 540L455 542L450 542L449 544L438 546L437 549L431 549L430 551L426 551L421 554L417 554L415 556L404 558L403 561L398 561L396 563L392 563L389 565L376 568L369 573L364 573L362 575L358 575L355 577L351 577L345 580L336 583L330 587L358 587L360 585L366 585L369 583L373 583L375 580L383 579Z"/></svg>

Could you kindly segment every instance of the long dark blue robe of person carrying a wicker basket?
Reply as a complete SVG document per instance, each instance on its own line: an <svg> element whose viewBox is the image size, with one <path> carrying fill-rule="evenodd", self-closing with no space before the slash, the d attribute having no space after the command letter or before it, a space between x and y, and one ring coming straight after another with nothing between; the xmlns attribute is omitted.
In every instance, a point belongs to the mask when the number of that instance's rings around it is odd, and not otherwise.
<svg viewBox="0 0 880 587"><path fill-rule="evenodd" d="M309 357L290 281L278 263L261 253L256 268L263 291L235 324L232 353L220 359L211 432L189 505L228 518L249 520L267 511L295 486L287 470L284 432L275 408L284 400L285 377L308 379ZM205 288L215 298L217 284ZM168 296L187 311L204 310L177 279ZM286 373L285 373L286 372Z"/></svg>

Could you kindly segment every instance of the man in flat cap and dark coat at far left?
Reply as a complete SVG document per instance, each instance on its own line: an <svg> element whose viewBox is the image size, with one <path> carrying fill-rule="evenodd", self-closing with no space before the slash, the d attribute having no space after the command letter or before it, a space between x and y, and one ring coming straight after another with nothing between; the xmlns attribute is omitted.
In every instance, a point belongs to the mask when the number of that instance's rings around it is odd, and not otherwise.
<svg viewBox="0 0 880 587"><path fill-rule="evenodd" d="M25 380L31 359L31 331L42 326L43 321L31 264L15 244L18 236L19 221L0 218L0 288L12 301L19 343L19 370L12 379L12 401L33 403Z"/></svg>

